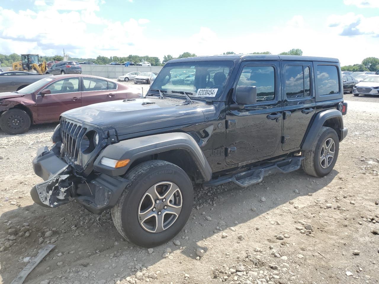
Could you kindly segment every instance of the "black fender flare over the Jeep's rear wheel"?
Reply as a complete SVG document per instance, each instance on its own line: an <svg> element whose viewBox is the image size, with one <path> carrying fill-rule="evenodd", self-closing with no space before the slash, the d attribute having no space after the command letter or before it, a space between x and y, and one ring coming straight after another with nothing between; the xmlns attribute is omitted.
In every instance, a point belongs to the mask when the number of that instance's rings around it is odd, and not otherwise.
<svg viewBox="0 0 379 284"><path fill-rule="evenodd" d="M325 111L320 111L316 114L315 118L313 119L312 124L310 125L309 131L307 133L307 136L304 139L301 150L303 151L309 150L312 147L312 144L316 139L318 131L321 129L324 123L329 119L337 119L339 130L340 131L344 130L342 113L340 111L338 111L337 109L327 109Z"/></svg>

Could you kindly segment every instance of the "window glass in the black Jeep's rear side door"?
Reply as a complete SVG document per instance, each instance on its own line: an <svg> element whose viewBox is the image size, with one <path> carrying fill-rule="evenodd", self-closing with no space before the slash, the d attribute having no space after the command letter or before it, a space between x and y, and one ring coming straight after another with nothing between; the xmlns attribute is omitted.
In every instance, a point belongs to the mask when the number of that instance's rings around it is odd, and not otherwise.
<svg viewBox="0 0 379 284"><path fill-rule="evenodd" d="M286 66L285 88L288 99L310 96L310 77L308 66Z"/></svg>

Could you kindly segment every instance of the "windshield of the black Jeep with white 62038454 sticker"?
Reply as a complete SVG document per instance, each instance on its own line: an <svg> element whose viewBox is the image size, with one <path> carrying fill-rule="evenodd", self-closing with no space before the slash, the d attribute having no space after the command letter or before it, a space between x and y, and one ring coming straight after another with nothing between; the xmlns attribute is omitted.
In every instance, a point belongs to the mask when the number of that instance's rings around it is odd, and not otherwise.
<svg viewBox="0 0 379 284"><path fill-rule="evenodd" d="M233 61L199 61L166 64L153 82L152 90L165 94L217 98L224 91ZM178 94L182 92L182 94Z"/></svg>

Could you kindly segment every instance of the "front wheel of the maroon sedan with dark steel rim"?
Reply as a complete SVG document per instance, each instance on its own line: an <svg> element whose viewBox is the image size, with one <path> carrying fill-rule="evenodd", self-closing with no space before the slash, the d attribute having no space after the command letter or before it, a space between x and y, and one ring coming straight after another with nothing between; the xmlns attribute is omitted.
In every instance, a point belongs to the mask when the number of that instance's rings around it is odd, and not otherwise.
<svg viewBox="0 0 379 284"><path fill-rule="evenodd" d="M8 134L24 133L28 131L30 124L30 116L22 109L9 109L0 117L0 127Z"/></svg>

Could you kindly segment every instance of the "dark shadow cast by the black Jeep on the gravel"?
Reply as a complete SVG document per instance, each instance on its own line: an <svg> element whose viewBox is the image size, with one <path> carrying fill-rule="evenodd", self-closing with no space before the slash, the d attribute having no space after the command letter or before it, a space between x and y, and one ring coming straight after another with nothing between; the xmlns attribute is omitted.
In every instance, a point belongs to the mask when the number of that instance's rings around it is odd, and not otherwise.
<svg viewBox="0 0 379 284"><path fill-rule="evenodd" d="M122 240L113 225L110 211L100 216L93 215L74 202L53 209L37 204L19 207L0 216L0 232L3 232L0 233L0 239L5 238L8 245L11 242L0 254L0 279L4 283L11 282L26 265L22 259L35 256L38 250L51 242L56 247L30 273L26 279L28 283L40 283L46 279L50 283L58 283L56 281L61 280L57 279L57 275L64 273L71 275L69 279L66 278L70 283L90 280L108 283L115 278L121 281L127 277L134 278L141 268L162 261L167 248L172 250L169 256L177 257L179 250L183 262L196 261L197 248L207 254L211 244L214 247L215 242L224 241L222 232L229 235L225 240L246 242L252 247L256 245L254 235L263 233L257 230L255 218L283 204L287 204L288 212L299 215L297 206L301 208L306 204L301 204L296 198L309 195L308 204L312 203L313 193L328 186L337 175L338 172L333 170L324 178L314 178L298 170L287 175L268 176L263 183L246 189L233 183L209 188L196 187L191 216L183 230L172 239L179 240L180 245L170 241L153 248L152 253L147 248L136 247ZM276 216L277 221L280 218L280 215ZM249 225L243 226L245 223ZM22 229L26 225L29 229ZM236 228L236 231L229 229L231 227ZM282 227L277 227L277 234L288 229ZM9 235L10 229L15 230ZM22 233L25 230L29 231L30 236L25 237L25 233ZM204 245L208 242L209 245ZM266 243L272 242L277 242L276 238L268 235Z"/></svg>

